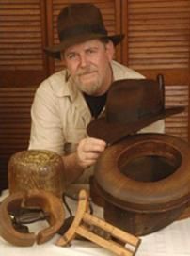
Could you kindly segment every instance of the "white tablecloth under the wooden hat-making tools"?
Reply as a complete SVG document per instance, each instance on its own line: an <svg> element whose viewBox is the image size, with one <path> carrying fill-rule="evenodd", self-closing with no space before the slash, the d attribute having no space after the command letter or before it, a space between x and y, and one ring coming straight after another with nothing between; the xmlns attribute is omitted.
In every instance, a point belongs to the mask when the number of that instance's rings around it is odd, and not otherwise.
<svg viewBox="0 0 190 256"><path fill-rule="evenodd" d="M0 198L7 196L7 191ZM69 200L72 211L77 203ZM102 208L94 206L94 215L101 216ZM44 222L30 225L30 231L40 231ZM62 248L55 246L59 237L56 234L52 240L42 245L34 245L28 248L15 247L0 237L0 256L113 256L107 249L86 241L73 240L71 247ZM141 244L136 256L190 256L190 218L175 221L163 230L141 237Z"/></svg>

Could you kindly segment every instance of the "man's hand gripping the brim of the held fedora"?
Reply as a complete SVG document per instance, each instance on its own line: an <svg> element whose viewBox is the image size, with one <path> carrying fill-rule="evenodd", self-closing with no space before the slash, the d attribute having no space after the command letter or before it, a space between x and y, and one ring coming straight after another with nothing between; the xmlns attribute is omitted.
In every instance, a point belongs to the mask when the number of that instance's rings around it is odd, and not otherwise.
<svg viewBox="0 0 190 256"><path fill-rule="evenodd" d="M93 137L82 139L76 150L78 165L82 168L94 165L105 147L106 143L101 139Z"/></svg>

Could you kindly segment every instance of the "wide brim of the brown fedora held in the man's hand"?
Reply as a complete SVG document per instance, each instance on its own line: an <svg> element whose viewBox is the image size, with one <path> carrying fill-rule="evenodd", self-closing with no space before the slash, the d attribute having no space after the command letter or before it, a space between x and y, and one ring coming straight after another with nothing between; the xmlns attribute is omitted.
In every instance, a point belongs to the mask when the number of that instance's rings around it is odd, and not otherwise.
<svg viewBox="0 0 190 256"><path fill-rule="evenodd" d="M157 116L152 116L143 120L136 120L135 122L128 124L120 124L117 122L108 123L106 118L102 117L100 119L93 120L88 124L87 134L91 137L103 139L108 144L113 144L125 136L131 135L157 120L162 120L171 115L179 114L183 110L184 107L182 106L166 108Z"/></svg>

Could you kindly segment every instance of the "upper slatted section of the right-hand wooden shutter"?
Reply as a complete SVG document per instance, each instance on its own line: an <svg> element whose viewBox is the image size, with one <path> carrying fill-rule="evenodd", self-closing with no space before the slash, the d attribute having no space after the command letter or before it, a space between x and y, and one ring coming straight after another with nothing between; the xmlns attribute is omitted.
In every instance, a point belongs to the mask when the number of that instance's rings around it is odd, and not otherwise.
<svg viewBox="0 0 190 256"><path fill-rule="evenodd" d="M128 1L128 63L136 70L187 68L189 1Z"/></svg>

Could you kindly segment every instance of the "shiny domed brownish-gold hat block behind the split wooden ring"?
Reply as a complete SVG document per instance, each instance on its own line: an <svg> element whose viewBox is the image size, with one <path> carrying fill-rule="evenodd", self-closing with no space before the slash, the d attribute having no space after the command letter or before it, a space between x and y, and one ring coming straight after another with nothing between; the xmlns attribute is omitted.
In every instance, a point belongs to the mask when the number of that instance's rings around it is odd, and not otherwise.
<svg viewBox="0 0 190 256"><path fill-rule="evenodd" d="M64 164L60 155L45 150L16 152L8 162L10 193L41 189L62 198Z"/></svg>

